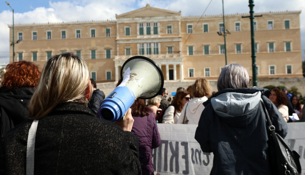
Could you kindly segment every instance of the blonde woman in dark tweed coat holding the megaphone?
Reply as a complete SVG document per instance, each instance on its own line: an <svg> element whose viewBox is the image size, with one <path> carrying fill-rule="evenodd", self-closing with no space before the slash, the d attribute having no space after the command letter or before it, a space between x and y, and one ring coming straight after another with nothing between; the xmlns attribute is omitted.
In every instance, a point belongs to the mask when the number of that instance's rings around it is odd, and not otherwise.
<svg viewBox="0 0 305 175"><path fill-rule="evenodd" d="M131 110L117 125L96 118L86 106L92 94L89 78L86 63L75 53L46 62L30 100L32 120L3 137L0 172L141 174Z"/></svg>

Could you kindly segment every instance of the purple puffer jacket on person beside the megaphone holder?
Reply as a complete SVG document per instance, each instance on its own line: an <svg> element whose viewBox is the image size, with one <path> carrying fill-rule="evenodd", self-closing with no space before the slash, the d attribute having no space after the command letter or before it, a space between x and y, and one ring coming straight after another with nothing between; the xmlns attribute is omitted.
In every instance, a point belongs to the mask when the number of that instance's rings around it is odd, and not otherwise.
<svg viewBox="0 0 305 175"><path fill-rule="evenodd" d="M135 117L131 132L138 136L142 174L153 174L151 149L160 145L161 138L152 112L144 117Z"/></svg>

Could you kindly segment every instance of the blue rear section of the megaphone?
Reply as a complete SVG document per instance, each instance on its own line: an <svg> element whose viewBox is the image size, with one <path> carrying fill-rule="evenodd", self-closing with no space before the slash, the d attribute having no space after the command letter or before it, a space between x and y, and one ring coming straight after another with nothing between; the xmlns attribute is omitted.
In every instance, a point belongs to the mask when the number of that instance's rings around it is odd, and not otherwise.
<svg viewBox="0 0 305 175"><path fill-rule="evenodd" d="M135 94L127 86L115 88L100 104L99 115L104 120L118 121L135 102Z"/></svg>

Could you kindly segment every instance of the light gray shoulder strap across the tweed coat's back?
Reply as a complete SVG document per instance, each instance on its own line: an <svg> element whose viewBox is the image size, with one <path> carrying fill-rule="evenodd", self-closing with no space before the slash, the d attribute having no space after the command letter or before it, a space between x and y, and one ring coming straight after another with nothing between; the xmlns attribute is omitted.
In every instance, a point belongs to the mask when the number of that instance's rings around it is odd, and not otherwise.
<svg viewBox="0 0 305 175"><path fill-rule="evenodd" d="M34 149L38 120L34 120L27 136L27 175L34 174Z"/></svg>

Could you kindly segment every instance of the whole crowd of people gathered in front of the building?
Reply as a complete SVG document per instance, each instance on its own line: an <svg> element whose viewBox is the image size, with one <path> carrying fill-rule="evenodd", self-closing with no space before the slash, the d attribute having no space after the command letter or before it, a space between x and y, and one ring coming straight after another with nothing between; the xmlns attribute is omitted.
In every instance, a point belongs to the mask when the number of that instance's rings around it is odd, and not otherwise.
<svg viewBox="0 0 305 175"><path fill-rule="evenodd" d="M305 119L298 96L248 87L249 75L239 64L223 68L218 92L199 78L178 88L169 102L163 88L152 99L136 99L116 122L96 117L105 94L75 53L52 56L42 70L28 61L6 70L1 174L153 174L151 150L161 143L157 122L197 125L194 137L202 151L214 154L211 174L272 174L261 100L283 138L286 122Z"/></svg>

